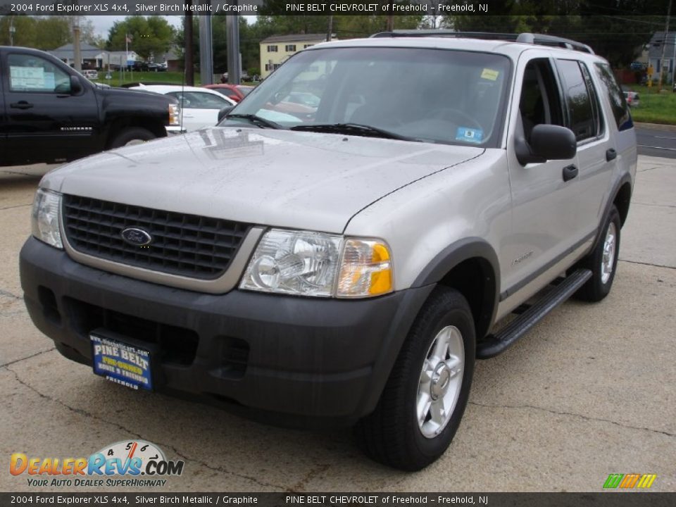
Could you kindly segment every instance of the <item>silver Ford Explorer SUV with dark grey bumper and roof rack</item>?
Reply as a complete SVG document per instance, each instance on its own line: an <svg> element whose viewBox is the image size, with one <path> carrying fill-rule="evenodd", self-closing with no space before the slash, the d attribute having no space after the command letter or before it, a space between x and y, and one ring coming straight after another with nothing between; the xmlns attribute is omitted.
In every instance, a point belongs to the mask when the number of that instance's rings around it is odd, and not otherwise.
<svg viewBox="0 0 676 507"><path fill-rule="evenodd" d="M37 327L134 389L356 425L405 470L441 456L475 358L608 294L637 151L587 46L408 35L318 44L218 127L46 175Z"/></svg>

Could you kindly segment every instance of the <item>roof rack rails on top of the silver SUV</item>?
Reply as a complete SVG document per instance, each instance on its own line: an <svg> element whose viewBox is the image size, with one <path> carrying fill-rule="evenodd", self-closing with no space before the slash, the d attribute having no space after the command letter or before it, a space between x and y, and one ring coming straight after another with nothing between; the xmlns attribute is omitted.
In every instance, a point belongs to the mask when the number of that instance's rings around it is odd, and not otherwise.
<svg viewBox="0 0 676 507"><path fill-rule="evenodd" d="M587 44L582 44L582 42L564 39L563 37L556 37L554 35L532 33L522 33L517 35L491 32L454 32L453 30L392 30L392 32L380 32L371 35L371 37L454 37L458 39L503 40L521 42L523 44L560 47L594 54L594 50L587 46Z"/></svg>

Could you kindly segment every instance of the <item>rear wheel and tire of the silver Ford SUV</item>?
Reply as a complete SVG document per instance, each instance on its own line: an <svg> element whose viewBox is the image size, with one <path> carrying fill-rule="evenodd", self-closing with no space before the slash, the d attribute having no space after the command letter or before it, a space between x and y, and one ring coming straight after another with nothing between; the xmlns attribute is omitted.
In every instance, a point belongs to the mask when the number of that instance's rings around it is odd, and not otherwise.
<svg viewBox="0 0 676 507"><path fill-rule="evenodd" d="M611 292L620 253L620 227L620 213L613 205L603 226L599 244L579 264L581 268L592 270L592 277L575 293L577 299L601 301Z"/></svg>

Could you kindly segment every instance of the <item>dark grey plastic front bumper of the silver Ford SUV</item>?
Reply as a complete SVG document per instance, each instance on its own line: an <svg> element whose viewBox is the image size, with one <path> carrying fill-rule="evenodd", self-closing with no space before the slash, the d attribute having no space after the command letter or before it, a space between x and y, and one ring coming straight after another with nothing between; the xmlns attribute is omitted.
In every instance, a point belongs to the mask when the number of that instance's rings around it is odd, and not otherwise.
<svg viewBox="0 0 676 507"><path fill-rule="evenodd" d="M303 426L373 411L432 289L353 301L201 294L89 268L32 237L20 274L30 317L64 356L91 365L90 332L128 336L158 351L156 390Z"/></svg>

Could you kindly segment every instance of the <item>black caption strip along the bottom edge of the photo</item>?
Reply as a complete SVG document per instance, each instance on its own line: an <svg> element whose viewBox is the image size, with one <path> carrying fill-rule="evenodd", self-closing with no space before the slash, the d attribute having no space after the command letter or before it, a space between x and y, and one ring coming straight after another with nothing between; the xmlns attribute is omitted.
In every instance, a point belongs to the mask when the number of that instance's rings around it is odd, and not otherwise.
<svg viewBox="0 0 676 507"><path fill-rule="evenodd" d="M0 493L0 506L671 507L676 493Z"/></svg>

